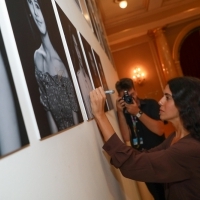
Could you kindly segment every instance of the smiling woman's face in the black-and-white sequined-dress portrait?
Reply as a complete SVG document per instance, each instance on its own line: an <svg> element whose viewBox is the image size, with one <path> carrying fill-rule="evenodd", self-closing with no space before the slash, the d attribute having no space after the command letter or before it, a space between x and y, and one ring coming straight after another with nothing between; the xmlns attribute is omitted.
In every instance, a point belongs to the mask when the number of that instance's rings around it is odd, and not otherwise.
<svg viewBox="0 0 200 200"><path fill-rule="evenodd" d="M41 34L46 33L46 24L38 0L27 0L29 10Z"/></svg>

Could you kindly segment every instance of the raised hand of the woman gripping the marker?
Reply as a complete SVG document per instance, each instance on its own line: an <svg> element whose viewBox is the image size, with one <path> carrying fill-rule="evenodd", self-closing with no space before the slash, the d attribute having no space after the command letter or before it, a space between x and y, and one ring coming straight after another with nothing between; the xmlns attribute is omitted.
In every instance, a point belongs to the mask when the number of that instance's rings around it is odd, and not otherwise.
<svg viewBox="0 0 200 200"><path fill-rule="evenodd" d="M106 95L102 87L99 87L90 92L90 101L92 107L92 113L95 118L102 116L104 113L104 105L106 101Z"/></svg>

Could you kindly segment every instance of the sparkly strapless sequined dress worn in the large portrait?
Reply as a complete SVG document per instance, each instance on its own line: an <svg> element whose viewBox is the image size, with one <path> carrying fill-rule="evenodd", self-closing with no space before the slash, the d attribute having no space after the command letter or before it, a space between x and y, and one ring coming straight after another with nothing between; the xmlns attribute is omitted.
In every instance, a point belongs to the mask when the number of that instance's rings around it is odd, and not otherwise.
<svg viewBox="0 0 200 200"><path fill-rule="evenodd" d="M47 112L51 112L58 130L64 130L74 125L73 113L79 107L74 88L69 77L51 76L35 70L36 80L40 90L40 102Z"/></svg>

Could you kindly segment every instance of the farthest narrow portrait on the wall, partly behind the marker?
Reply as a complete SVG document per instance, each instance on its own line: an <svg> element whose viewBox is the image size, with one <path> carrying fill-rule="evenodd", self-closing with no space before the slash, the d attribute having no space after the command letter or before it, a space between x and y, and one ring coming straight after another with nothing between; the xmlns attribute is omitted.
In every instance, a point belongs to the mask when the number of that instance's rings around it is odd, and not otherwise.
<svg viewBox="0 0 200 200"><path fill-rule="evenodd" d="M109 90L108 85L107 85L107 81L106 81L106 77L103 71L103 67L101 64L101 59L99 57L99 55L94 51L94 49L92 49L92 53L94 56L94 60L96 63L96 67L100 76L100 80L101 80L101 85L103 87L104 90ZM112 99L110 97L110 94L106 94L106 104L108 107L108 110L112 110L113 109L113 103L112 103Z"/></svg>

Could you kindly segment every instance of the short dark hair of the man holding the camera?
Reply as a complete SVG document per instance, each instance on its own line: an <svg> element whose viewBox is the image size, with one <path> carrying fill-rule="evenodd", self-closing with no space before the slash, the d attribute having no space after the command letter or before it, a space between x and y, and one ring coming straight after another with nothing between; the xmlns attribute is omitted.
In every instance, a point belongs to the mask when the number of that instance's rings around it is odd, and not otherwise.
<svg viewBox="0 0 200 200"><path fill-rule="evenodd" d="M116 82L115 88L118 93L124 90L135 89L133 80L131 78L122 78Z"/></svg>

